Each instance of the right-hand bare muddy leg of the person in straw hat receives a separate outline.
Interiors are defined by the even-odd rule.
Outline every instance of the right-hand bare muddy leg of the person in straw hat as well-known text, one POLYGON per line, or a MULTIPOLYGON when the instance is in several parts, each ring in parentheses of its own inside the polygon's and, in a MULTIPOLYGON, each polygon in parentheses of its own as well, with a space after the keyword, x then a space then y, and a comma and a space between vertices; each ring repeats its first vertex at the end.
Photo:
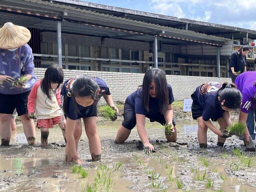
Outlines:
POLYGON ((20 115, 20 120, 23 124, 23 130, 29 145, 35 144, 35 126, 33 119, 28 117, 28 114, 20 115))

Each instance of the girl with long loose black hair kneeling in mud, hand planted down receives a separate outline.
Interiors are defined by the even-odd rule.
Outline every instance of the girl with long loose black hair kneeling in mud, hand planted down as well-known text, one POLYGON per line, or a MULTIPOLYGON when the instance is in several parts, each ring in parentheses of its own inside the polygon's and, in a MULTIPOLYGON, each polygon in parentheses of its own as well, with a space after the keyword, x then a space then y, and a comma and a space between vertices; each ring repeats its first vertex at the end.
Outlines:
POLYGON ((145 130, 145 117, 160 124, 170 125, 172 134, 166 134, 167 141, 174 142, 177 130, 171 103, 174 101, 171 86, 167 84, 163 70, 151 68, 146 71, 142 87, 131 93, 125 100, 123 121, 116 134, 115 142, 123 143, 131 129, 137 125, 138 135, 146 153, 154 150, 145 130))

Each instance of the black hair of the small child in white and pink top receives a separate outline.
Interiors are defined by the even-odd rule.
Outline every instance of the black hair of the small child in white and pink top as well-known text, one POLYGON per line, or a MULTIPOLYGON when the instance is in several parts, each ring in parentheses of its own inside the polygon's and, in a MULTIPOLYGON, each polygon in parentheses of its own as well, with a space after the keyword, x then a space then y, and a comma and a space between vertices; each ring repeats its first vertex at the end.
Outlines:
POLYGON ((50 90, 53 90, 50 83, 58 83, 57 87, 53 90, 53 92, 56 93, 59 85, 63 82, 63 78, 64 74, 62 66, 59 66, 58 64, 52 64, 47 67, 44 73, 44 77, 41 80, 41 89, 49 99, 51 99, 50 90))

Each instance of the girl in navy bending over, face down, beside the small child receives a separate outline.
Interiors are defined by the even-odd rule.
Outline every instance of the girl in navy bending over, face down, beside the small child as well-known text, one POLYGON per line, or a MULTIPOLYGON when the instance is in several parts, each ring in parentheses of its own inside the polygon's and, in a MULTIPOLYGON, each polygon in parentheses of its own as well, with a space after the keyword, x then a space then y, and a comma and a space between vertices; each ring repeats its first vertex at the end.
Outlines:
POLYGON ((63 111, 66 117, 64 121, 66 147, 66 161, 76 164, 85 162, 78 157, 77 145, 82 133, 81 118, 84 122, 85 132, 89 141, 89 149, 92 161, 101 159, 101 145, 97 133, 97 102, 101 96, 106 103, 115 109, 110 90, 106 83, 97 77, 79 75, 67 79, 60 92, 63 100, 63 111))

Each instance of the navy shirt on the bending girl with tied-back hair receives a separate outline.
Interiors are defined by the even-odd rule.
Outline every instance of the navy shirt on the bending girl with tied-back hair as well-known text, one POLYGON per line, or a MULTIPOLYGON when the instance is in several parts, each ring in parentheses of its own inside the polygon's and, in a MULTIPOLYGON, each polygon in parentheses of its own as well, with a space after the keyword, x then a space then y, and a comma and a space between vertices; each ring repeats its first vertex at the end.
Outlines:
POLYGON ((224 110, 218 100, 218 91, 222 84, 218 82, 206 82, 196 87, 195 92, 198 104, 202 108, 202 119, 217 119, 223 115, 224 110))

